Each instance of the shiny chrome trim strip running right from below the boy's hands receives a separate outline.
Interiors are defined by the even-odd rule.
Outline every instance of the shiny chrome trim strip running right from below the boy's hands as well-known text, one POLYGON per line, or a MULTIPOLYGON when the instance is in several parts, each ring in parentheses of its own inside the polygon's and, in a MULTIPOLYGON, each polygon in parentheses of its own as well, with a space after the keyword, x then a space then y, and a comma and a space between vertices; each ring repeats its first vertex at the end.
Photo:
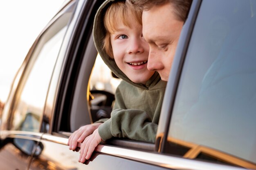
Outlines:
POLYGON ((233 166, 184 159, 163 154, 98 145, 95 151, 174 170, 244 170, 233 166))

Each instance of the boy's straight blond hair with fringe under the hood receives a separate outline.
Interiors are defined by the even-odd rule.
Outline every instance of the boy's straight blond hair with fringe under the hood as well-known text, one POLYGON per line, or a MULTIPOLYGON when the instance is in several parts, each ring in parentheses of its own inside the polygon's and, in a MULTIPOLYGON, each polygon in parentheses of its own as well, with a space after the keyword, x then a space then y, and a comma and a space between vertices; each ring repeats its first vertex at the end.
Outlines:
POLYGON ((106 29, 106 36, 103 42, 103 49, 105 49, 108 56, 114 58, 113 50, 110 41, 110 35, 118 30, 117 25, 124 24, 131 27, 131 22, 138 22, 142 25, 142 10, 137 5, 127 4, 126 1, 113 2, 106 10, 104 15, 104 27, 106 29))

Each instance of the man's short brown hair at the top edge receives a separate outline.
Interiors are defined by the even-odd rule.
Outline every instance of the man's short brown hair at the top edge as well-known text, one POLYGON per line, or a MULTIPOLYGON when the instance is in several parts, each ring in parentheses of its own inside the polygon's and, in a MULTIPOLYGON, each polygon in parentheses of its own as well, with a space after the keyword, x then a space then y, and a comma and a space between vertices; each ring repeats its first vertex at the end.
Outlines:
POLYGON ((149 10, 155 5, 170 3, 174 7, 174 13, 178 20, 184 21, 187 18, 192 0, 127 0, 130 4, 138 5, 143 10, 149 10))

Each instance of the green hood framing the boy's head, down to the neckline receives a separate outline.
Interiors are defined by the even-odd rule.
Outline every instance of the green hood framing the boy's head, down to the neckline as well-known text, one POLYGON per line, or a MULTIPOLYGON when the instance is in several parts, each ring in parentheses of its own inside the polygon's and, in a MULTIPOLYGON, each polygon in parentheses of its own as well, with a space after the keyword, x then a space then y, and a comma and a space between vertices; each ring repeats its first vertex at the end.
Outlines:
POLYGON ((103 18, 106 10, 114 1, 120 1, 120 0, 106 0, 105 2, 103 2, 103 4, 101 4, 101 6, 99 7, 95 15, 94 24, 93 24, 93 39, 94 39, 95 47, 99 52, 99 55, 101 56, 104 63, 108 65, 110 70, 117 77, 141 89, 150 89, 151 86, 155 86, 161 80, 157 72, 155 72, 153 76, 151 76, 151 78, 147 81, 146 85, 142 83, 134 83, 119 69, 114 58, 111 58, 110 56, 108 56, 108 54, 106 54, 106 51, 103 49, 103 40, 106 36, 106 29, 104 27, 103 18))

